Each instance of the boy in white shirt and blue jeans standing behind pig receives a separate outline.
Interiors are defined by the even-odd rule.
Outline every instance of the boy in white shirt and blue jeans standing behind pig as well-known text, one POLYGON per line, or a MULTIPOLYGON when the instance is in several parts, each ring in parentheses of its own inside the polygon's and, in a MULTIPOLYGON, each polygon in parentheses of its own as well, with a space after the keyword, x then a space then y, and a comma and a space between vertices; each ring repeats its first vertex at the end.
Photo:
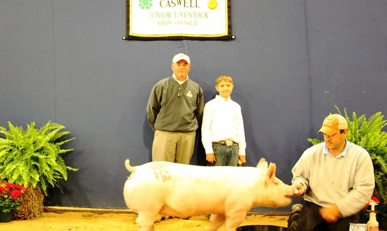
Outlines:
POLYGON ((219 92, 204 105, 201 142, 210 166, 237 166, 246 163, 246 140, 241 106, 230 97, 234 88, 230 76, 219 76, 219 92))

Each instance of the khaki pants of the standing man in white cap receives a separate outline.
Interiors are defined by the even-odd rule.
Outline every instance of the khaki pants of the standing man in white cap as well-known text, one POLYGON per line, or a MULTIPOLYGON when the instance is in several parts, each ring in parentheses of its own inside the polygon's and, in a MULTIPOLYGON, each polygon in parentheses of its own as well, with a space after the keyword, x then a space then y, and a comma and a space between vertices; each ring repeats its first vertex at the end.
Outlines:
POLYGON ((190 164, 194 153, 196 132, 156 130, 152 145, 152 161, 190 164))

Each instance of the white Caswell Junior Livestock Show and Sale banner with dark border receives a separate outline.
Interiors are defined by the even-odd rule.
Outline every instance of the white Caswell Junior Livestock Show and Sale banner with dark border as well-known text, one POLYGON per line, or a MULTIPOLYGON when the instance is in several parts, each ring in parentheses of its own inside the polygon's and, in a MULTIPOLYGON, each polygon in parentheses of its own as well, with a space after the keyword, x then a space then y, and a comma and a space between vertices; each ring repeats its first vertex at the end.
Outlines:
POLYGON ((134 40, 225 40, 231 0, 127 0, 127 33, 134 40))

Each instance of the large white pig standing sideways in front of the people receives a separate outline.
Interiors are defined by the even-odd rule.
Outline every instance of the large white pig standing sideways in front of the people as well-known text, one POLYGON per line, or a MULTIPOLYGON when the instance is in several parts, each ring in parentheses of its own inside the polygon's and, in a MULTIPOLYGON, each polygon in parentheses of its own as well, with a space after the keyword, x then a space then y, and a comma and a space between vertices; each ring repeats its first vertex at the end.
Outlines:
POLYGON ((261 159, 257 167, 195 166, 165 161, 126 168, 132 172, 124 199, 138 214, 138 231, 154 231, 158 214, 191 217, 213 214, 208 231, 225 223, 235 231, 251 208, 282 207, 291 203, 295 186, 275 177, 275 164, 261 159))

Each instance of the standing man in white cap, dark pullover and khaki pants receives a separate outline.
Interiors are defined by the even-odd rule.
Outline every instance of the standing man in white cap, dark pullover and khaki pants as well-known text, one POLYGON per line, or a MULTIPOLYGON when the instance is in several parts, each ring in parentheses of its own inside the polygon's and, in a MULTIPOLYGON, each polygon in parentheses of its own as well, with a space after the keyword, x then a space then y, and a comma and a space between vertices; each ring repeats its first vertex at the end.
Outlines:
POLYGON ((190 164, 203 114, 203 90, 188 77, 191 60, 186 54, 175 55, 171 68, 173 75, 153 86, 146 108, 155 132, 152 161, 190 164))

